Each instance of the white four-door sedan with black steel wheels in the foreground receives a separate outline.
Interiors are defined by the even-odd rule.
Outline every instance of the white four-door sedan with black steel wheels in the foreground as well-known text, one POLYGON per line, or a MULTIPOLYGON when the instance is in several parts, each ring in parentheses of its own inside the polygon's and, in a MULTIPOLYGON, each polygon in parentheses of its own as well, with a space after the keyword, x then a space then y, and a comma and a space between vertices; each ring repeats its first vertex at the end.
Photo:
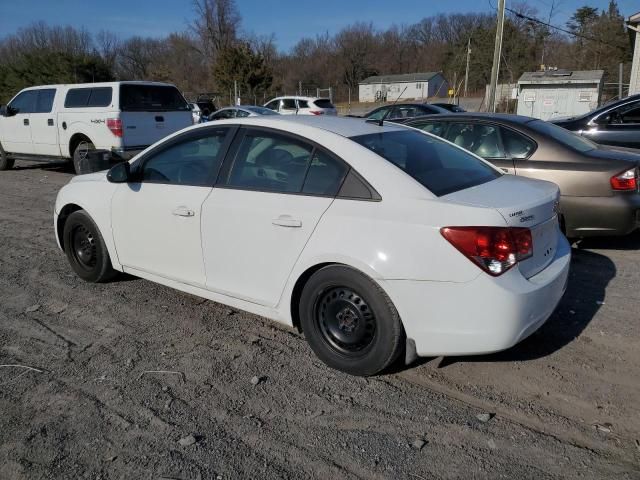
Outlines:
POLYGON ((127 272, 247 310, 372 375, 540 327, 569 272, 558 195, 407 127, 250 117, 74 177, 55 227, 89 282, 127 272))

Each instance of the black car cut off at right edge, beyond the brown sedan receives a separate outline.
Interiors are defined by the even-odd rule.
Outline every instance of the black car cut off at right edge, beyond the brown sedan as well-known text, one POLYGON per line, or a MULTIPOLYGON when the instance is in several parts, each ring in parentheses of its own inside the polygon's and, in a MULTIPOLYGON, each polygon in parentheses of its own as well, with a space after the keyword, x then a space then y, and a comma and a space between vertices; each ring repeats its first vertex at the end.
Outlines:
POLYGON ((551 122, 596 143, 640 148, 640 95, 623 98, 586 115, 551 122))

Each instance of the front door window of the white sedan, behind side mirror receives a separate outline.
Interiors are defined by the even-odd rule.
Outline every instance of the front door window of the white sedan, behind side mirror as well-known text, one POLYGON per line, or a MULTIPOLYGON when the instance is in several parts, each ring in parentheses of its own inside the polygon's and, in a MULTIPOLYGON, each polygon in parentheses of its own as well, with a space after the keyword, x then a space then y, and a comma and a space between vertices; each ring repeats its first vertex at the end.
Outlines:
POLYGON ((222 163, 228 128, 207 131, 206 136, 185 140, 144 160, 138 176, 142 182, 211 186, 222 163))

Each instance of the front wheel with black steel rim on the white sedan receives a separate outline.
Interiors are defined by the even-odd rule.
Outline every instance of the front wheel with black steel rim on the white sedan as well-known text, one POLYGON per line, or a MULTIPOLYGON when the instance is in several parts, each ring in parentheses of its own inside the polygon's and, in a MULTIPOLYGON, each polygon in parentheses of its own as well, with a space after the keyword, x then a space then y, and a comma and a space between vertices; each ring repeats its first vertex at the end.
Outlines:
POLYGON ((116 275, 100 230, 87 212, 78 210, 69 215, 62 238, 67 259, 80 278, 102 283, 116 275))

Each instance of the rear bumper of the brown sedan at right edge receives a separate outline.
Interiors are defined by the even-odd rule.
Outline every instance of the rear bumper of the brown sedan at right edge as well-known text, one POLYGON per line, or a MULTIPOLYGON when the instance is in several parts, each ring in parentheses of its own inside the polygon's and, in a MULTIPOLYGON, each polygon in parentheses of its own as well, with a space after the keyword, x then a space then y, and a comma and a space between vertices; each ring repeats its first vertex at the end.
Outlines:
POLYGON ((610 197, 561 197, 569 237, 627 235, 640 227, 640 194, 610 197))

